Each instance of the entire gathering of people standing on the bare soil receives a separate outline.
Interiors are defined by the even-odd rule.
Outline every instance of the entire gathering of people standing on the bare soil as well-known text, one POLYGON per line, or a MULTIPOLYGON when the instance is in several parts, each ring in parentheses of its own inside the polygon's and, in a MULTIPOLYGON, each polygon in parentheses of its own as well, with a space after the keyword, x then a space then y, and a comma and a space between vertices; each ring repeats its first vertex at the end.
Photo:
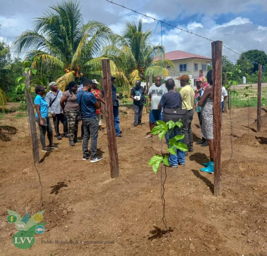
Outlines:
MULTIPOLYGON (((160 76, 156 77, 156 82, 147 90, 141 86, 141 81, 137 80, 135 86, 131 89, 130 97, 133 99, 134 107, 134 126, 142 125, 141 118, 143 106, 147 101, 147 109, 149 109, 149 128, 145 138, 151 138, 151 130, 156 125, 157 120, 162 120, 163 108, 179 108, 187 110, 186 121, 182 128, 176 127, 172 132, 167 132, 165 135, 166 143, 178 134, 183 134, 184 139, 181 140, 188 147, 188 152, 193 152, 193 134, 192 134, 192 120, 195 111, 198 113, 199 124, 201 126, 202 140, 197 144, 202 146, 209 146, 210 161, 203 163, 205 168, 201 171, 213 173, 213 87, 211 79, 211 71, 207 73, 206 77, 199 77, 196 80, 196 90, 194 91, 189 84, 190 78, 188 75, 182 75, 177 78, 180 80, 182 87, 180 92, 176 91, 175 82, 171 77, 165 78, 165 85, 162 84, 160 76), (145 97, 147 94, 147 98, 145 97)), ((123 137, 120 130, 119 122, 119 101, 116 97, 116 87, 114 86, 114 77, 111 77, 112 85, 112 102, 114 125, 116 137, 123 137)), ((36 86, 35 91, 37 97, 34 99, 36 107, 36 121, 40 130, 40 141, 42 144, 42 151, 49 152, 52 149, 58 148, 53 143, 52 125, 48 117, 48 112, 52 115, 56 138, 62 139, 59 132, 59 123, 63 124, 64 137, 69 138, 70 146, 75 146, 76 142, 81 142, 77 138, 79 119, 82 120, 82 137, 83 137, 83 160, 91 159, 91 162, 99 161, 103 156, 97 156, 96 146, 98 139, 98 132, 103 131, 101 125, 101 103, 105 104, 104 89, 97 88, 99 84, 96 79, 83 79, 83 84, 79 86, 75 81, 72 81, 66 86, 64 93, 58 90, 56 82, 51 82, 49 88, 51 89, 46 95, 43 86, 36 86), (78 92, 78 93, 77 93, 78 92), (80 117, 80 118, 79 118, 80 117), (45 144, 45 134, 49 140, 49 145, 45 144), (88 151, 88 141, 91 138, 91 155, 88 151)), ((227 92, 222 87, 222 102, 227 98, 227 92)), ((223 111, 223 107, 222 107, 223 111)), ((185 156, 188 152, 183 152, 176 149, 176 154, 169 154, 170 167, 178 167, 178 165, 185 166, 185 156)))

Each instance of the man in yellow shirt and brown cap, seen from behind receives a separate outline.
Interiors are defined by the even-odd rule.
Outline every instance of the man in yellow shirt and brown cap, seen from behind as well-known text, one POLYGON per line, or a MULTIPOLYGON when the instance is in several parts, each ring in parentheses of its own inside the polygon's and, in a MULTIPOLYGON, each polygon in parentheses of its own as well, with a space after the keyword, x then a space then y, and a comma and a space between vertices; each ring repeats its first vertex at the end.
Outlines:
MULTIPOLYGON (((191 122, 193 120, 194 115, 194 97, 195 93, 192 86, 189 84, 189 76, 182 75, 177 78, 180 80, 180 85, 182 89, 180 90, 180 94, 182 95, 182 107, 183 109, 187 109, 187 126, 182 127, 182 134, 184 134, 184 144, 188 147, 188 152, 193 152, 193 133, 191 129, 191 122)), ((185 155, 188 155, 186 152, 185 155)))

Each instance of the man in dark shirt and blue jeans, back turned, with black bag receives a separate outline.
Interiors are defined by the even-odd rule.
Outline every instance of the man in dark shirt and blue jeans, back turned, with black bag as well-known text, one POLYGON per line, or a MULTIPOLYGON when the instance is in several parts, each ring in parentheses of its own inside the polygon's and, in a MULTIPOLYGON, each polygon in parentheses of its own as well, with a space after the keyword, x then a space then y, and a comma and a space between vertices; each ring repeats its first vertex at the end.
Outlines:
MULTIPOLYGON (((168 90, 167 93, 162 95, 161 101, 158 105, 158 110, 161 110, 161 106, 163 108, 180 108, 182 109, 182 96, 179 92, 174 90, 175 82, 173 79, 168 79, 166 81, 166 88, 168 90), (161 105, 162 103, 162 105, 161 105)), ((175 126, 171 131, 167 131, 165 134, 166 143, 168 145, 169 140, 176 135, 182 134, 181 129, 178 126, 175 126)), ((180 140, 183 142, 183 140, 180 140)), ((170 167, 177 168, 178 165, 185 166, 185 153, 179 149, 176 149, 176 155, 169 154, 169 164, 170 167)))

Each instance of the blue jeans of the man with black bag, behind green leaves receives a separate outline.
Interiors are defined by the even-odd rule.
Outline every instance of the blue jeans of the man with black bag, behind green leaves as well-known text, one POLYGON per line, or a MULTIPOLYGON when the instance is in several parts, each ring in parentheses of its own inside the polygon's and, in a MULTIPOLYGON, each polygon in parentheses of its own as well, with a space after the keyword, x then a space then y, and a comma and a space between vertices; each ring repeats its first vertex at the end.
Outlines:
MULTIPOLYGON (((182 134, 182 131, 178 127, 175 127, 172 131, 167 131, 165 134, 165 139, 166 139, 167 145, 169 146, 169 140, 171 138, 175 137, 176 135, 181 135, 181 134, 182 134)), ((183 142, 183 140, 179 140, 179 141, 183 142)), ((169 154, 169 164, 177 166, 178 163, 185 164, 184 151, 181 151, 180 149, 176 149, 176 155, 169 154)))

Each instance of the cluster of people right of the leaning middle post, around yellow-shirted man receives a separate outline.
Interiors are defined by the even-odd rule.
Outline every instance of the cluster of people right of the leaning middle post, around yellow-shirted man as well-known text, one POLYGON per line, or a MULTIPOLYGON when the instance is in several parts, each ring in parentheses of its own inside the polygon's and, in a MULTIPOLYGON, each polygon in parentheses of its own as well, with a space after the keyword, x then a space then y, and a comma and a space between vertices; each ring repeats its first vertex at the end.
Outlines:
MULTIPOLYGON (((141 123, 143 104, 145 102, 144 95, 147 93, 147 102, 149 103, 147 108, 149 109, 149 127, 150 133, 145 138, 151 138, 151 130, 156 125, 157 120, 162 120, 163 108, 179 108, 187 110, 186 122, 180 129, 176 127, 171 132, 167 132, 165 135, 166 143, 178 134, 183 134, 184 139, 181 140, 188 147, 188 152, 193 152, 193 133, 192 133, 192 120, 194 115, 194 108, 198 114, 199 124, 201 126, 202 139, 196 144, 201 146, 209 146, 210 161, 203 163, 204 168, 200 170, 207 173, 214 172, 213 161, 213 83, 211 79, 212 71, 207 73, 207 78, 200 76, 196 79, 196 90, 194 91, 189 84, 189 76, 182 75, 177 78, 180 80, 180 86, 182 87, 180 92, 177 92, 175 82, 171 77, 165 78, 165 86, 161 83, 161 77, 156 77, 156 82, 149 88, 148 91, 144 91, 141 86, 141 81, 136 82, 131 90, 131 98, 134 100, 134 126, 141 123)), ((222 87, 222 111, 223 102, 227 98, 227 92, 222 87)), ((185 166, 185 156, 188 156, 188 152, 183 152, 176 149, 176 155, 169 154, 170 167, 177 168, 178 165, 185 166)))

